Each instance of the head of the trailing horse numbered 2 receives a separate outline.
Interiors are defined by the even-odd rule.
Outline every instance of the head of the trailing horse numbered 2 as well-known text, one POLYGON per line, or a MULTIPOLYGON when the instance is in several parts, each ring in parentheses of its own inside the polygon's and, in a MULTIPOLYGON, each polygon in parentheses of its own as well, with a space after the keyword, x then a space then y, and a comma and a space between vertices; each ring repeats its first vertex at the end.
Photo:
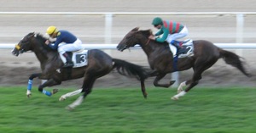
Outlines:
POLYGON ((129 47, 134 47, 136 44, 143 45, 143 43, 148 42, 148 36, 151 35, 151 30, 139 30, 139 28, 136 27, 125 35, 123 40, 119 42, 117 49, 119 51, 124 51, 129 47))

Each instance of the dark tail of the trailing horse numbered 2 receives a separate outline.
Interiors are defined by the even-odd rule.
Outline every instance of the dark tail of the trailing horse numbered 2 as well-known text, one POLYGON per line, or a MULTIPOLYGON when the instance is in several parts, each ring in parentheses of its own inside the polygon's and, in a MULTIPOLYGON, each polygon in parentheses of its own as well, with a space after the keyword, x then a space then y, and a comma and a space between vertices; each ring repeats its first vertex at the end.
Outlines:
POLYGON ((247 75, 247 77, 251 77, 247 70, 243 66, 243 61, 241 61, 241 57, 236 55, 236 53, 231 53, 224 49, 219 48, 220 57, 224 59, 226 64, 230 64, 241 71, 242 74, 247 75))

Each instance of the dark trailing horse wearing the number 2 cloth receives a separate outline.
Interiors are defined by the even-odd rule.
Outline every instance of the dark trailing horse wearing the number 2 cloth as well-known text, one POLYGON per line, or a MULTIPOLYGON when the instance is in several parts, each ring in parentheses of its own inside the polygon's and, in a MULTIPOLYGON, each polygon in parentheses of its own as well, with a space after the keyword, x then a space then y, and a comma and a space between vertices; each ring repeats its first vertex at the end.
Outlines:
POLYGON ((134 47, 136 44, 143 48, 147 54, 148 64, 153 69, 151 76, 156 76, 154 79, 154 86, 169 87, 174 83, 173 80, 168 84, 159 84, 159 81, 168 73, 174 71, 182 71, 185 69, 193 68, 194 75, 190 80, 184 81, 178 87, 178 94, 172 97, 177 100, 179 97, 185 95, 192 87, 196 86, 201 80, 201 74, 212 67, 218 61, 218 58, 223 58, 226 64, 230 64, 241 71, 242 74, 251 76, 244 68, 240 57, 235 53, 231 53, 219 47, 216 47, 212 42, 205 40, 193 41, 194 56, 187 58, 178 58, 177 63, 173 64, 174 59, 172 52, 169 49, 167 42, 160 43, 148 40, 148 36, 152 36, 151 30, 138 30, 134 28, 131 30, 121 42, 119 42, 118 50, 123 51, 126 48, 134 47), (173 65, 177 65, 176 68, 173 65), (189 85, 185 91, 183 86, 189 85))

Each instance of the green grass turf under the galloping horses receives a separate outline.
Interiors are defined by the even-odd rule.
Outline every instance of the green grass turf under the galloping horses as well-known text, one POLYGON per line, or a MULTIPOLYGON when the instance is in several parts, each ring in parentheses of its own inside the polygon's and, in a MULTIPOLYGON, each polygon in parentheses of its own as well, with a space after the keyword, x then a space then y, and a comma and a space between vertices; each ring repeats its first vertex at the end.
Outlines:
MULTIPOLYGON (((50 89, 49 89, 50 90, 50 89)), ((78 97, 58 99, 73 89, 46 97, 36 88, 0 87, 0 130, 9 133, 236 133, 256 130, 256 89, 195 88, 179 101, 176 89, 95 89, 73 111, 65 107, 78 97)))

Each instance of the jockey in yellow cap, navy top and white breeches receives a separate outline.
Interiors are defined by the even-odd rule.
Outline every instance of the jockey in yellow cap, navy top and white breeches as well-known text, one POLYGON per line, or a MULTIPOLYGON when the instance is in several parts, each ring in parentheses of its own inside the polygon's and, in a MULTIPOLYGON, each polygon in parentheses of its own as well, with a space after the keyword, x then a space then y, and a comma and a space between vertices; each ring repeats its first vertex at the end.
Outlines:
POLYGON ((49 26, 46 33, 51 38, 56 38, 56 41, 49 45, 49 40, 45 42, 52 49, 58 49, 61 60, 64 63, 63 68, 73 67, 72 58, 68 56, 66 52, 74 52, 81 50, 82 42, 67 30, 57 30, 55 26, 49 26), (65 63, 65 58, 67 62, 65 63))

